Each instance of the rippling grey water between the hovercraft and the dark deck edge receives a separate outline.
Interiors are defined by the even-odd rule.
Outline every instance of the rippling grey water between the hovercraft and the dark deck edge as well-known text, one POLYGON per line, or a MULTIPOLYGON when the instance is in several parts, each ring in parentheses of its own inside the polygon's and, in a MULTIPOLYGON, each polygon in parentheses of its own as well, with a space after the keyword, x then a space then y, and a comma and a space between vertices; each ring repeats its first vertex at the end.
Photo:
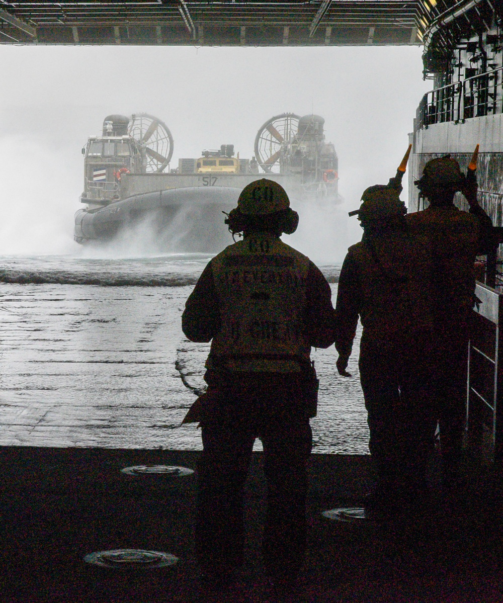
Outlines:
MULTIPOLYGON (((180 424, 209 344, 188 341, 180 317, 209 259, 0 257, 0 445, 201 449, 197 426, 180 424)), ((335 304, 340 265, 320 268, 335 304)), ((359 335, 352 377, 334 347, 312 350, 313 452, 369 452, 359 335)))

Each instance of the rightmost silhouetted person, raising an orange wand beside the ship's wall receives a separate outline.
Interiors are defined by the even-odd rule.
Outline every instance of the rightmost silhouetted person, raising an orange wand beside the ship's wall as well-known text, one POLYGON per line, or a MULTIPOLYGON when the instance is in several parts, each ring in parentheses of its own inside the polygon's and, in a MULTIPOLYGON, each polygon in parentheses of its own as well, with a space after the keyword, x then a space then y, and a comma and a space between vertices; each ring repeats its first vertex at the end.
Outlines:
POLYGON ((492 222, 477 201, 476 152, 465 176, 451 156, 426 163, 416 181, 429 206, 407 216, 411 232, 428 239, 434 260, 437 415, 447 485, 459 481, 466 417, 467 349, 475 294, 475 257, 492 244, 492 222), (469 212, 454 205, 463 192, 469 212))

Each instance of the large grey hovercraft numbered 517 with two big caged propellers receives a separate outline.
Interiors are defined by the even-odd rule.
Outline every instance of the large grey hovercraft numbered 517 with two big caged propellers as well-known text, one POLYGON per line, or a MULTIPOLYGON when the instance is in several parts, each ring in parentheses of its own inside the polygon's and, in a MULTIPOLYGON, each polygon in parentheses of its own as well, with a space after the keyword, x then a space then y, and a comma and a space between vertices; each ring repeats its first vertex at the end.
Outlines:
POLYGON ((173 139, 160 119, 109 115, 102 135, 82 150, 86 207, 75 214, 75 241, 141 235, 154 250, 216 253, 229 243, 222 212, 260 177, 279 182, 293 203, 329 210, 341 198, 337 153, 325 142, 323 124, 318 115, 283 113, 259 129, 251 160, 226 144, 169 169, 173 139))

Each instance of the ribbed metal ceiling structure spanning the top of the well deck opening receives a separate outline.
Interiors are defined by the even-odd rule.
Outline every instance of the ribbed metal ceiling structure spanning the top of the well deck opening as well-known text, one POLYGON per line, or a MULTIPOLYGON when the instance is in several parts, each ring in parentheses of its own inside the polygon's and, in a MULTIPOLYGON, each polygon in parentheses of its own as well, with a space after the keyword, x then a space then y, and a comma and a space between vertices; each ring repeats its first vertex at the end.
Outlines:
POLYGON ((0 0, 0 43, 420 45, 451 0, 0 0))

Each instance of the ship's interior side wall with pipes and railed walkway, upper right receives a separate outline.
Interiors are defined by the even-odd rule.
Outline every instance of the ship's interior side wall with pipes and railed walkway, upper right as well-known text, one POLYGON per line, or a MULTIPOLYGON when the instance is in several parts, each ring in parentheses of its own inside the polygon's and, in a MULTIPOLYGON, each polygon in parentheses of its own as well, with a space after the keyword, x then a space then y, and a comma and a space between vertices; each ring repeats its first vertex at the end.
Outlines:
MULTIPOLYGON (((434 157, 451 154, 466 172, 479 144, 478 200, 503 226, 503 8, 458 2, 425 33, 423 63, 433 89, 423 96, 410 135, 410 211, 424 209, 414 180, 434 157), (449 34, 449 35, 448 35, 449 34), (455 40, 455 42, 449 42, 455 40)), ((496 3, 498 5, 498 3, 496 3)), ((455 200, 469 209, 463 195, 455 200)))

